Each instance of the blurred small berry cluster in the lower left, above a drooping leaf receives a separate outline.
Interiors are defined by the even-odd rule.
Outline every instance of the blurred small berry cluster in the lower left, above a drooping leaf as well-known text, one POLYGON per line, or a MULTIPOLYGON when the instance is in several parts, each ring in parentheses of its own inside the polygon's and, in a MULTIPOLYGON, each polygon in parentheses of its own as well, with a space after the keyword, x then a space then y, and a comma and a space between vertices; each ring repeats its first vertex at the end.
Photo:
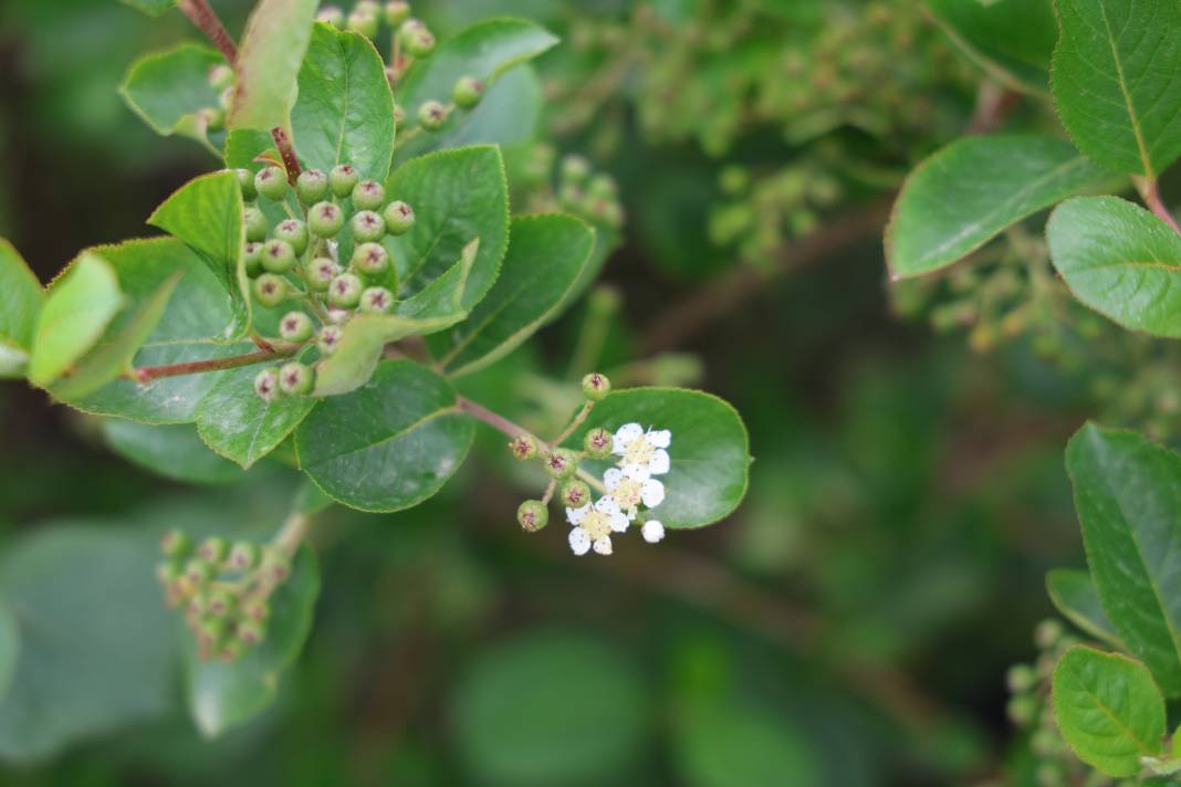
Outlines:
POLYGON ((180 530, 161 539, 161 551, 164 562, 156 575, 164 597, 170 606, 183 608, 202 661, 234 661, 262 642, 270 595, 291 576, 286 555, 253 542, 230 545, 217 537, 194 549, 180 530))

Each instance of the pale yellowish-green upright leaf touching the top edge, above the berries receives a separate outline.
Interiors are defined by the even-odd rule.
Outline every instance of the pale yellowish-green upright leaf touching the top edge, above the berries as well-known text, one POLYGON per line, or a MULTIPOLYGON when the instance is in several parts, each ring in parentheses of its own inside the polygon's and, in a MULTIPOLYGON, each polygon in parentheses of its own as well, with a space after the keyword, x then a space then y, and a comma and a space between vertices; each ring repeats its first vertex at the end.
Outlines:
POLYGON ((259 0, 237 51, 229 129, 291 126, 300 63, 312 39, 317 0, 259 0))

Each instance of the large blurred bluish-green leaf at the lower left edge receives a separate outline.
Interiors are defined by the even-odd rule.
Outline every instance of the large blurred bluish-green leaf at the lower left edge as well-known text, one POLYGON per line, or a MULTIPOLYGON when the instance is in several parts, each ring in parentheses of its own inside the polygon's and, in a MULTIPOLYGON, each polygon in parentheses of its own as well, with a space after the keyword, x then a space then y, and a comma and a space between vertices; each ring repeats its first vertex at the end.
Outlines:
POLYGON ((0 701, 0 756, 27 762, 142 723, 172 703, 172 619, 155 539, 106 523, 38 527, 9 545, 0 595, 20 650, 0 701))

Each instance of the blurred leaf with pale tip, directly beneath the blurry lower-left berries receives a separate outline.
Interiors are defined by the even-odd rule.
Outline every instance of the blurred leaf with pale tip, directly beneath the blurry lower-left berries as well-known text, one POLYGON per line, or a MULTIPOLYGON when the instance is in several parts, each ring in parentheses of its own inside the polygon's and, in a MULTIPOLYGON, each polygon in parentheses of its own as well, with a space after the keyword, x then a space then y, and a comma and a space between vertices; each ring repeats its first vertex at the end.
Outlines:
POLYGON ((221 735, 274 701, 282 671, 304 649, 319 593, 315 555, 305 546, 291 578, 270 597, 266 638, 237 661, 201 661, 193 636, 182 632, 189 709, 205 737, 221 735))

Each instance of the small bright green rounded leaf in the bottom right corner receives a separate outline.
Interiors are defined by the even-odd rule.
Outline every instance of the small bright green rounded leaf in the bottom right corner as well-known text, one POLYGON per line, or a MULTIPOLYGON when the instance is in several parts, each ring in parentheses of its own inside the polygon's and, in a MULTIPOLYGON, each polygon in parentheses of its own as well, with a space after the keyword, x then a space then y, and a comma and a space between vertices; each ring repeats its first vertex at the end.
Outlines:
POLYGON ((1078 758, 1109 776, 1140 773, 1164 737, 1164 700, 1144 665, 1071 648, 1053 668, 1053 714, 1078 758))

